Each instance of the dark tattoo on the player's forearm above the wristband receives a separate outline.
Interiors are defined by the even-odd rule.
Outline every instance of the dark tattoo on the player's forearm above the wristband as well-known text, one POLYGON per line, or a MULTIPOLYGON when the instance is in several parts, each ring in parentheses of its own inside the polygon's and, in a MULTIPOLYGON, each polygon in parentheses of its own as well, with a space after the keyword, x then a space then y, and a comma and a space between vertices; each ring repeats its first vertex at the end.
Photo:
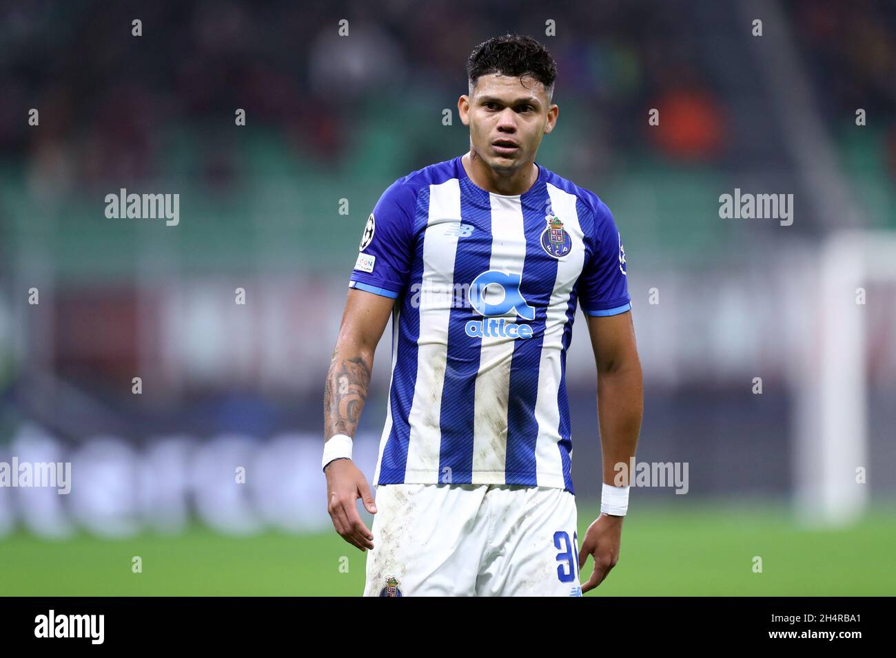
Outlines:
POLYGON ((369 363, 361 356, 344 359, 338 351, 333 353, 323 390, 323 427, 328 439, 333 434, 355 435, 369 386, 369 363))

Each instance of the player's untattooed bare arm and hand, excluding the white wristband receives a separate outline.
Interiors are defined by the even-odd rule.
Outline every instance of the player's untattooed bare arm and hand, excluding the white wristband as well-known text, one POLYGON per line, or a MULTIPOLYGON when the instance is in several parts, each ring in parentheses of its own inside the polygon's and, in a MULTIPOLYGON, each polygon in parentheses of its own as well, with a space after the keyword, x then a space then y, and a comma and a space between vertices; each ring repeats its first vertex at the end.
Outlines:
MULTIPOLYGON (((634 339, 632 313, 589 316, 591 346, 598 366, 598 422, 603 455, 603 483, 628 486, 627 468, 616 483, 614 466, 630 463, 638 446, 643 413, 641 360, 634 339)), ((594 570, 582 593, 594 589, 619 560, 622 522, 625 517, 600 514, 589 526, 579 551, 579 568, 591 555, 594 570)))

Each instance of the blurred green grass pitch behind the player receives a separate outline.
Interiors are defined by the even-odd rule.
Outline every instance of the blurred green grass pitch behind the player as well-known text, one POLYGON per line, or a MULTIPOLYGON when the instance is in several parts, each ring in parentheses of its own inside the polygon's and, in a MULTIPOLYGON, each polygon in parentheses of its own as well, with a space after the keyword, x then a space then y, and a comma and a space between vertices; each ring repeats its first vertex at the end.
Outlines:
MULTIPOLYGON (((596 511, 579 502, 580 542, 596 511)), ((893 595, 894 546, 896 515, 883 509, 849 529, 817 531, 764 504, 633 506, 619 563, 586 595, 893 595)), ((65 542, 17 533, 0 539, 0 595, 351 596, 363 590, 365 558, 335 533, 234 538, 196 526, 177 536, 65 542), (135 555, 140 574, 131 570, 135 555)), ((589 561, 582 580, 590 570, 589 561)))

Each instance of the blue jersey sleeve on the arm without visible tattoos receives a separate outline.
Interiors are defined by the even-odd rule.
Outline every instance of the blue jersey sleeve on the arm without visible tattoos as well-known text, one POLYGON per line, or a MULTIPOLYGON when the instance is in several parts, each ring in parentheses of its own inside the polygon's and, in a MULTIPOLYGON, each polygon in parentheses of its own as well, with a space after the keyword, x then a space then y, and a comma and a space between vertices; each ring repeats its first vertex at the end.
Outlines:
POLYGON ((597 197, 593 211, 591 249, 579 278, 579 299, 588 315, 616 315, 632 308, 622 236, 607 204, 597 197))

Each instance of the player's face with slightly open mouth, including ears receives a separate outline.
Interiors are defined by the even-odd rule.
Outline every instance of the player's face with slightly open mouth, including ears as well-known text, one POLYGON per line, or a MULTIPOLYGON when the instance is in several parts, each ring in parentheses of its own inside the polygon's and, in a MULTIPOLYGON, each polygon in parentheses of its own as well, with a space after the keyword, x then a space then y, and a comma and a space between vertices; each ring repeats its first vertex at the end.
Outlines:
POLYGON ((461 96, 458 111, 470 126, 473 150, 495 171, 510 174, 535 158, 541 138, 554 130, 558 108, 534 78, 493 73, 461 96))

